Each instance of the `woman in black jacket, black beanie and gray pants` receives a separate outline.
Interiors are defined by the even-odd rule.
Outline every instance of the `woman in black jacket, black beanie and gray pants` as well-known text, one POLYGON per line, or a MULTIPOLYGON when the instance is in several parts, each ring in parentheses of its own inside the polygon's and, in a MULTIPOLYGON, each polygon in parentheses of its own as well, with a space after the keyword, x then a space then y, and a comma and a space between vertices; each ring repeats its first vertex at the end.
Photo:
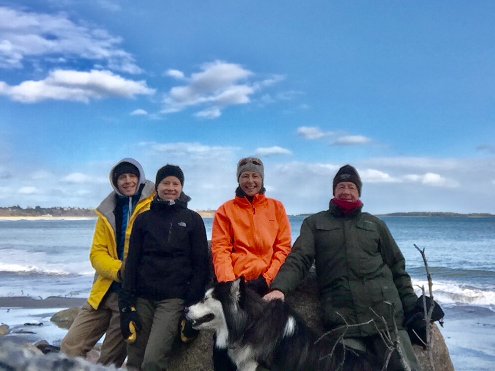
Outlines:
POLYGON ((119 295, 128 370, 165 370, 184 307, 204 296, 206 231, 201 216, 187 208, 183 184, 180 167, 159 169, 157 195, 132 228, 119 295))

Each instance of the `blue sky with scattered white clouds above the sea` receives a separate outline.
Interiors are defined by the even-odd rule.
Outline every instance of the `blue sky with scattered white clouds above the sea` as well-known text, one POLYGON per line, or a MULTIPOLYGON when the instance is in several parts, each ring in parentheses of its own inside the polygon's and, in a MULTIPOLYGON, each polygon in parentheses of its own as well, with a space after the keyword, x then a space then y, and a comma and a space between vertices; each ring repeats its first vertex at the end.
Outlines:
POLYGON ((134 157, 192 209, 495 213, 495 2, 0 0, 0 206, 96 207, 134 157))

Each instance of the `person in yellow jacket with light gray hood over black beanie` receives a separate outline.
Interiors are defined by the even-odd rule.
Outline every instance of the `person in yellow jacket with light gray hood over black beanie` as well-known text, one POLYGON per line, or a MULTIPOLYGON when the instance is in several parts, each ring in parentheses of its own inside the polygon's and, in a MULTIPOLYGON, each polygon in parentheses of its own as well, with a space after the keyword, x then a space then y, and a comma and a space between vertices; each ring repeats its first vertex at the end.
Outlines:
POLYGON ((105 335, 98 363, 121 367, 126 343, 120 332, 118 291, 127 255, 132 223, 149 209, 155 185, 133 158, 124 158, 110 170, 113 191, 100 203, 89 260, 95 270, 93 286, 60 350, 68 356, 85 357, 105 335))

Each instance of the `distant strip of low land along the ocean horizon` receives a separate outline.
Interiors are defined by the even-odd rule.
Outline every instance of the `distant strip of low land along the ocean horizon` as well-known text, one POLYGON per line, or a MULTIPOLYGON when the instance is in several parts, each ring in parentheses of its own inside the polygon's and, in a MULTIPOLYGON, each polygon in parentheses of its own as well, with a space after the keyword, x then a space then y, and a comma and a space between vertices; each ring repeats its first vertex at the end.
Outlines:
MULTIPOLYGON (((213 218, 215 216, 215 210, 196 210, 196 212, 203 218, 213 218)), ((313 215, 313 213, 308 214, 298 214, 294 216, 307 217, 313 215)), ((377 216, 418 216, 418 217, 472 217, 472 218, 486 218, 495 217, 495 214, 490 213, 469 213, 469 214, 459 214, 459 213, 449 213, 449 212, 438 212, 438 211, 411 211, 405 213, 389 213, 389 214, 377 214, 377 216)), ((95 218, 96 214, 94 209, 91 208, 80 208, 80 207, 26 207, 21 208, 19 205, 0 207, 0 217, 89 217, 95 218)))

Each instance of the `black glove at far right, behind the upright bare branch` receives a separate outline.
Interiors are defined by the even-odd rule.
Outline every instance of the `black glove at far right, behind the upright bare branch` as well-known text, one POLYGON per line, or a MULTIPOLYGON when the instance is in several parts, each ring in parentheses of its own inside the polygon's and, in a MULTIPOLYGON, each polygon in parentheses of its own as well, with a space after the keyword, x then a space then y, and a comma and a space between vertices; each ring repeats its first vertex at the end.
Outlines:
MULTIPOLYGON (((427 296, 426 298, 426 308, 427 311, 430 310, 432 299, 427 296)), ((431 322, 440 321, 444 318, 444 311, 440 308, 440 305, 434 300, 433 303, 435 307, 432 312, 431 322)), ((425 310, 423 306, 423 296, 421 296, 417 301, 413 310, 406 317, 404 323, 406 326, 411 343, 418 344, 425 347, 426 344, 426 321, 425 321, 425 310)))

